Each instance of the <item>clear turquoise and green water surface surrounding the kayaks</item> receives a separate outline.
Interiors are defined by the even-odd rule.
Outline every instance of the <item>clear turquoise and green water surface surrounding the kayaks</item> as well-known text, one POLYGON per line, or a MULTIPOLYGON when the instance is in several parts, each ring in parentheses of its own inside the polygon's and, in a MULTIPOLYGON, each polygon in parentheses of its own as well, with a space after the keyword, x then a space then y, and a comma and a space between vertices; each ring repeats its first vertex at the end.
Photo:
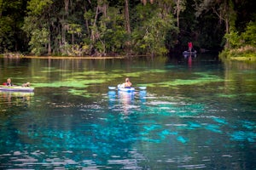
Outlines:
POLYGON ((0 169, 255 169, 256 66, 196 58, 0 59, 0 169), (130 77, 136 91, 109 90, 130 77), (146 90, 138 87, 146 86, 146 90))

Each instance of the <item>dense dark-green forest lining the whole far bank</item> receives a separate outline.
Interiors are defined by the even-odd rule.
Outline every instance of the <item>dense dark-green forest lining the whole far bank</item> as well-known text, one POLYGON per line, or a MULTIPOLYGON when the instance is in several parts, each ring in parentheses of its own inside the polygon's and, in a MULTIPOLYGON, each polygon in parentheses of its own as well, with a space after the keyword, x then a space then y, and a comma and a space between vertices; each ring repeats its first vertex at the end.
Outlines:
POLYGON ((255 0, 0 0, 0 54, 255 53, 255 0))

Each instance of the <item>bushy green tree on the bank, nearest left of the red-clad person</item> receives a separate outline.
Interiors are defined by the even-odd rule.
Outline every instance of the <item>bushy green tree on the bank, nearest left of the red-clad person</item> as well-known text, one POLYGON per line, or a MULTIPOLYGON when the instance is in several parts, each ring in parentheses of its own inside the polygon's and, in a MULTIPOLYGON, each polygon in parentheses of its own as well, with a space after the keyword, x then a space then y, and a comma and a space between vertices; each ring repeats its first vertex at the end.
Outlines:
POLYGON ((139 54, 166 54, 167 32, 176 31, 172 14, 163 14, 161 8, 149 4, 138 6, 137 13, 137 26, 132 33, 135 51, 139 54))

